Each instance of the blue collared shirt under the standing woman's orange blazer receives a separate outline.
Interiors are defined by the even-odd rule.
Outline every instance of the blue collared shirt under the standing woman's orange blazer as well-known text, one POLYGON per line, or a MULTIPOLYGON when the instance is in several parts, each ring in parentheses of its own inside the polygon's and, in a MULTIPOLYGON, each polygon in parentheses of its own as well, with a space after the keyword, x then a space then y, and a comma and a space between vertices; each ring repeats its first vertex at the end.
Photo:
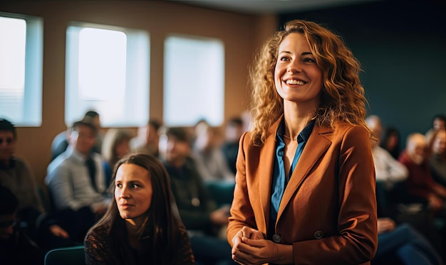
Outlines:
POLYGON ((269 234, 274 233, 274 226, 276 224, 277 213, 279 212, 279 205, 282 200, 282 196, 284 195, 284 190, 286 188, 286 184, 288 184, 291 175, 293 174, 294 168, 296 168, 296 164, 301 157, 302 151, 304 151, 304 147, 306 141, 310 137, 311 132, 313 131, 314 126, 313 119, 297 136, 297 148, 296 153, 294 153, 293 163, 291 163, 291 168, 289 170, 289 174, 285 176, 285 166, 284 166, 284 150, 285 150, 285 142, 283 139, 285 126, 284 121, 281 122, 279 129, 276 133, 276 160, 274 161, 274 175, 271 184, 271 210, 270 210, 270 231, 269 234))

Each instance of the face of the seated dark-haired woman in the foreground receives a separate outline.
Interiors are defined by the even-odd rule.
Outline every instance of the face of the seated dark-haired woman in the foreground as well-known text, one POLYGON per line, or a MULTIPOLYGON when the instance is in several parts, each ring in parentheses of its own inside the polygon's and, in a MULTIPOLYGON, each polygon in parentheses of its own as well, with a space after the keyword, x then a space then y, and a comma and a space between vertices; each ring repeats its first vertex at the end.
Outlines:
POLYGON ((115 178, 115 200, 123 219, 144 219, 152 202, 149 171, 135 164, 119 166, 115 178))

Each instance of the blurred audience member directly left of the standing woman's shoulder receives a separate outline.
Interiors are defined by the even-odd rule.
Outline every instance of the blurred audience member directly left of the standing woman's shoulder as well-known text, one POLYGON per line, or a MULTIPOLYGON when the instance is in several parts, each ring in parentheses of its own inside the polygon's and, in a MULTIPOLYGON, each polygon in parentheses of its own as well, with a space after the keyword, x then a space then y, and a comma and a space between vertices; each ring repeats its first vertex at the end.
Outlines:
POLYGON ((237 161, 237 153, 239 153, 239 140, 243 132, 242 118, 234 117, 229 119, 226 124, 222 152, 229 169, 234 175, 237 173, 237 168, 235 165, 237 161))

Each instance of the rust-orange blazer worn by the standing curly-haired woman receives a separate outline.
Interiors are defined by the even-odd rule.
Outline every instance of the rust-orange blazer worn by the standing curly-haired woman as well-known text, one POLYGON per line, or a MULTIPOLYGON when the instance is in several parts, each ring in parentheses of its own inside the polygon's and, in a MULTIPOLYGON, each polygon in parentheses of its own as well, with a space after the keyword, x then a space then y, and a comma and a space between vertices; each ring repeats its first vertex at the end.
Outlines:
MULTIPOLYGON (((266 234, 276 131, 262 146, 240 139, 227 239, 242 227, 266 234)), ((292 244, 295 264, 370 264, 378 247, 375 168, 363 126, 315 125, 282 197, 274 242, 292 244)))

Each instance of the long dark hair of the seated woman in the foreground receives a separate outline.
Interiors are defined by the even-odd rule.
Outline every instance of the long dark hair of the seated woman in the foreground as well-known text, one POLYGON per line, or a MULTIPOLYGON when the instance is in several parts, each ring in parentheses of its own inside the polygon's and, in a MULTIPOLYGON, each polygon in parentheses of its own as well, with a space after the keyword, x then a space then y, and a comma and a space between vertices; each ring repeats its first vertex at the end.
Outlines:
MULTIPOLYGON (((148 220, 142 232, 138 234, 138 239, 144 249, 141 254, 147 259, 152 259, 147 260, 149 264, 171 264, 175 259, 175 253, 181 249, 178 235, 180 227, 184 227, 170 190, 169 175, 155 156, 145 153, 130 153, 116 163, 113 169, 112 183, 115 182, 118 168, 124 163, 145 168, 149 172, 153 188, 148 220), (147 249, 150 249, 149 252, 153 255, 147 254, 147 249)), ((128 242, 125 220, 120 217, 116 200, 112 200, 105 215, 91 229, 102 226, 108 229, 108 241, 112 253, 115 254, 115 259, 123 264, 130 264, 130 261, 134 259, 133 251, 128 247, 128 244, 123 244, 123 242, 128 242)))

